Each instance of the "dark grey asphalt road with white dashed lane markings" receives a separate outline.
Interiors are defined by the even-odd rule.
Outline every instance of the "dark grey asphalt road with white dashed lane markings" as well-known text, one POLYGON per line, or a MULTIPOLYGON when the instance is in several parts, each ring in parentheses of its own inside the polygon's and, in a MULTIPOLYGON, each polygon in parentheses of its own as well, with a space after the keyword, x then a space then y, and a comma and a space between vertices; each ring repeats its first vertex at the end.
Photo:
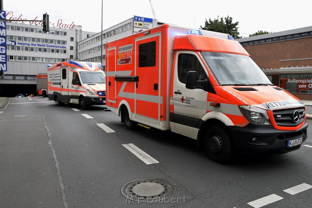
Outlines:
POLYGON ((129 131, 104 109, 11 98, 0 111, 0 207, 312 207, 312 124, 297 151, 239 154, 221 165, 195 140, 129 131), (157 162, 142 161, 132 144, 157 162), (157 202, 123 196, 142 178, 168 181, 175 192, 157 202))

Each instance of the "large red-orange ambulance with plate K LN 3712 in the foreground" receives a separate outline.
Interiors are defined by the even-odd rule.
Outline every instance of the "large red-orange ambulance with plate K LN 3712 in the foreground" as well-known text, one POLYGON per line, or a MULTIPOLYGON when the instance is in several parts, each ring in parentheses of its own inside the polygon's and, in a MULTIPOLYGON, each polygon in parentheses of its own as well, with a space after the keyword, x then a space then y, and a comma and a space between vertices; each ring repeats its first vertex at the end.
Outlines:
POLYGON ((305 105, 232 36, 164 24, 105 43, 106 106, 126 128, 185 135, 216 162, 285 153, 307 138, 305 105))

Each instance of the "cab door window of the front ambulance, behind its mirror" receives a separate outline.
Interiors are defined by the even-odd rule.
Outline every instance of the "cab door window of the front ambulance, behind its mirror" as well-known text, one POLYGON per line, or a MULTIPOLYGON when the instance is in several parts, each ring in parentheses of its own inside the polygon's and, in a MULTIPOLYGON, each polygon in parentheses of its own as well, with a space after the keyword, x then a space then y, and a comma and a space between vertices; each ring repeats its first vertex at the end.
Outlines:
POLYGON ((186 83, 186 74, 188 71, 197 72, 197 80, 208 79, 202 65, 193 54, 179 54, 178 56, 178 77, 179 81, 186 83))

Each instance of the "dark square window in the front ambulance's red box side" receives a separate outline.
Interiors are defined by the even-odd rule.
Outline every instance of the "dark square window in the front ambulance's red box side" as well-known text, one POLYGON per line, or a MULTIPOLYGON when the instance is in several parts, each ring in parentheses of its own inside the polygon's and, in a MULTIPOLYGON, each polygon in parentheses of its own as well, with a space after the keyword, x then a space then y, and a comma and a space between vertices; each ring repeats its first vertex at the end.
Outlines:
POLYGON ((139 44, 139 67, 156 66, 156 41, 139 44))

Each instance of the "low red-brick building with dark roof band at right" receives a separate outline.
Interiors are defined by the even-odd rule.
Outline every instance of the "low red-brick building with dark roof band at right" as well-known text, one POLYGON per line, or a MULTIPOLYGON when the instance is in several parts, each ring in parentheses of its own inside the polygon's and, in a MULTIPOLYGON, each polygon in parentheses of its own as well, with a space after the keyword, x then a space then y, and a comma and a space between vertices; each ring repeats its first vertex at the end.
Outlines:
POLYGON ((312 26, 236 39, 273 84, 312 100, 312 26))

